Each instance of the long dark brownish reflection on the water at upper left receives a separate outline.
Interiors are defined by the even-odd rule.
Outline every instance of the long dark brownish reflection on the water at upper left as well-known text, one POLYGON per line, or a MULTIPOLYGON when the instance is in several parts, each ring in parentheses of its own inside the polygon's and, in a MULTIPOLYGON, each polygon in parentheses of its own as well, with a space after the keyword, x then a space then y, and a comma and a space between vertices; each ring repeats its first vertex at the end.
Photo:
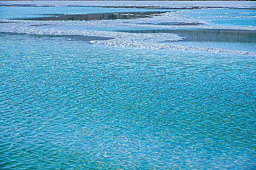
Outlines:
POLYGON ((26 18, 27 20, 102 20, 102 19, 132 19, 132 18, 143 18, 153 17, 156 14, 163 14, 166 12, 130 12, 130 13, 106 13, 106 14, 75 14, 75 15, 64 15, 54 14, 52 17, 37 17, 37 18, 26 18))

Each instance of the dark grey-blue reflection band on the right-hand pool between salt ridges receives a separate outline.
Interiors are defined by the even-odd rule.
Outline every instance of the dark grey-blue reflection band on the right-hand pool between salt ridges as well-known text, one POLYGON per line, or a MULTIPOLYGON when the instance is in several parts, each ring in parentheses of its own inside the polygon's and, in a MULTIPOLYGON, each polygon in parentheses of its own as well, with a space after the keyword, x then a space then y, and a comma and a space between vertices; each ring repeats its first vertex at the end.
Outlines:
POLYGON ((255 30, 128 30, 128 33, 172 33, 186 37, 185 41, 256 42, 255 30))

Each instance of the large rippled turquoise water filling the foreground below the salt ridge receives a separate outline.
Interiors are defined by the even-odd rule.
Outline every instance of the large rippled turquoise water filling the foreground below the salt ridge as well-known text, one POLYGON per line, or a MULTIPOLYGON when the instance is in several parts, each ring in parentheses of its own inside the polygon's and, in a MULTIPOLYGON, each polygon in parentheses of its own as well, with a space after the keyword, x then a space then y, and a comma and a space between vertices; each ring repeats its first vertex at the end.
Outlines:
POLYGON ((255 56, 0 34, 0 169, 255 169, 255 118, 255 56))

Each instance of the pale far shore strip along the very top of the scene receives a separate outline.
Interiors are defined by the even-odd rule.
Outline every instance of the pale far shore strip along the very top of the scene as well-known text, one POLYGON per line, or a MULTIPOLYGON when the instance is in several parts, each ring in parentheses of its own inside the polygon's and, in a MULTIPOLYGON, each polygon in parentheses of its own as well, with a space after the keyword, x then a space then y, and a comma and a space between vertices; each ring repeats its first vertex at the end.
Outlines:
POLYGON ((105 1, 105 0, 0 0, 2 5, 29 5, 29 6, 73 6, 73 7, 171 7, 171 8, 187 8, 187 7, 216 7, 218 8, 256 8, 256 1, 218 1, 218 0, 156 0, 156 1, 105 1), (127 3, 129 2, 129 3, 127 3), (155 3, 154 3, 155 2, 155 3), (159 3, 161 2, 161 3, 159 3), (199 3, 200 2, 200 3, 199 3), (219 3, 221 2, 221 3, 219 3), (230 3, 232 2, 232 3, 230 3))

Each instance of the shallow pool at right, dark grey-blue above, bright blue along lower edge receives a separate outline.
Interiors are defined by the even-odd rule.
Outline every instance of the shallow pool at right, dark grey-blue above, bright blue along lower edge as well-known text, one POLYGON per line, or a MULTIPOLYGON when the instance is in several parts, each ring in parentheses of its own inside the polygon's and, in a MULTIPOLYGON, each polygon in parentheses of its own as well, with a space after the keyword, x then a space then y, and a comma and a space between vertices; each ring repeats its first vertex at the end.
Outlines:
POLYGON ((256 51, 255 30, 214 29, 140 29, 126 30, 128 33, 171 33, 183 37, 179 41, 163 41, 168 44, 191 47, 212 47, 239 51, 256 51))

